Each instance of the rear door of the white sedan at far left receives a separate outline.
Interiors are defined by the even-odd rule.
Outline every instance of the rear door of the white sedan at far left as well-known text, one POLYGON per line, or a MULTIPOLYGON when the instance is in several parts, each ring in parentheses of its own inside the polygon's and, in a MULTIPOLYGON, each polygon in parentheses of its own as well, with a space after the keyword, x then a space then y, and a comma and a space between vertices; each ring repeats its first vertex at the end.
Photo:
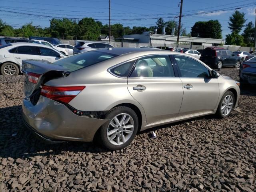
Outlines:
POLYGON ((14 59, 21 66, 22 60, 39 59, 40 55, 36 46, 19 46, 13 54, 14 59))

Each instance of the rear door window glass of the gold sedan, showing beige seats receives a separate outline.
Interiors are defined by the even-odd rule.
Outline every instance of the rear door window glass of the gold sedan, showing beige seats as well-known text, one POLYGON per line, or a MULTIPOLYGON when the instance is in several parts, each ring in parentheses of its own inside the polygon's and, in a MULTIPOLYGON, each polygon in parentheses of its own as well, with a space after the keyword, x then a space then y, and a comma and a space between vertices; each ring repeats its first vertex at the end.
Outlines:
POLYGON ((138 59, 130 77, 174 77, 174 70, 168 55, 148 56, 138 59))

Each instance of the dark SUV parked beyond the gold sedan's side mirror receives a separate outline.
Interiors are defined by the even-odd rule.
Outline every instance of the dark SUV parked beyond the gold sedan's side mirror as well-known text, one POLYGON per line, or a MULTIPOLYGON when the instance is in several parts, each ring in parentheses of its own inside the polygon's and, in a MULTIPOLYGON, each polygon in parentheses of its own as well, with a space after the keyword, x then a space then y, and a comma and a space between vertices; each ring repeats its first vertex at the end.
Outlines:
POLYGON ((200 60, 211 68, 220 69, 222 66, 239 67, 241 58, 236 56, 232 51, 223 48, 204 49, 201 53, 200 60))

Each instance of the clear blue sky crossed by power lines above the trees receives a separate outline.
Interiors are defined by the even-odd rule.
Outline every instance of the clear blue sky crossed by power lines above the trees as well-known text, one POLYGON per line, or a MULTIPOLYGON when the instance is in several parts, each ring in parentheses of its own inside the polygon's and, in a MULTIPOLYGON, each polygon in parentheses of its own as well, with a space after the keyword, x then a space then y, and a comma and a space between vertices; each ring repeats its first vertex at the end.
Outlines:
MULTIPOLYGON (((0 0, 0 19, 14 28, 33 22, 33 25, 49 27, 52 17, 92 17, 108 24, 108 0, 0 0), (26 13, 26 14, 20 14, 26 13)), ((180 0, 110 0, 111 24, 124 26, 154 26, 156 18, 164 21, 179 16, 180 0)), ((246 23, 255 24, 255 0, 183 0, 182 24, 190 32, 195 22, 218 20, 222 25, 222 38, 230 33, 228 21, 234 8, 245 13, 246 23), (242 8, 240 8, 242 7, 242 8), (220 12, 210 11, 222 10, 220 12), (197 15, 189 15, 197 14, 197 15)), ((178 18, 175 18, 178 22, 178 18)))

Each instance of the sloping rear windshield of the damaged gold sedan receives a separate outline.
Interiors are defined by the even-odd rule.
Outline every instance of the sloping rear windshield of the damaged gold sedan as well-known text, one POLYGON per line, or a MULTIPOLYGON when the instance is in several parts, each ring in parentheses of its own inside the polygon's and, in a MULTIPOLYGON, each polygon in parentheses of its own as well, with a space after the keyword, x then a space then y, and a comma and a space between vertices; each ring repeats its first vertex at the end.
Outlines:
POLYGON ((115 54, 109 54, 98 51, 88 51, 82 54, 77 54, 58 60, 54 64, 68 68, 70 72, 76 71, 81 68, 85 68, 96 63, 108 60, 110 58, 116 57, 115 54))

